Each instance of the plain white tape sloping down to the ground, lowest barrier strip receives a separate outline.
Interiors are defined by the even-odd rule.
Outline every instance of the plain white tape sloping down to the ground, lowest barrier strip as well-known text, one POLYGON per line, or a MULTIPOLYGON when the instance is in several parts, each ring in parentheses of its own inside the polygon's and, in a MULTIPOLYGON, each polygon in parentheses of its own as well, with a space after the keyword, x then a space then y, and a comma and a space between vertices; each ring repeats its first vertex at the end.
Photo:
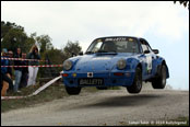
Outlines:
POLYGON ((41 92, 43 90, 45 90, 47 86, 51 85, 52 83, 55 83, 59 79, 61 79, 61 76, 50 80, 45 85, 40 86, 39 89, 37 89, 34 93, 32 93, 29 95, 26 95, 26 96, 1 96, 1 100, 23 99, 23 97, 29 97, 29 96, 37 95, 39 92, 41 92))

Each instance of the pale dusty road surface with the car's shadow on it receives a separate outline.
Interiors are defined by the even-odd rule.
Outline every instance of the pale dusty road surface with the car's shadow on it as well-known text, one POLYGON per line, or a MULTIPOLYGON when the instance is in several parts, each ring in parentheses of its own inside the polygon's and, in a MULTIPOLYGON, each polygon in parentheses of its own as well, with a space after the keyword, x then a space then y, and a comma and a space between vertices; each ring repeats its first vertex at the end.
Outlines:
POLYGON ((189 91, 142 90, 129 94, 121 90, 63 97, 35 106, 1 113, 1 125, 74 126, 131 125, 189 117, 189 91))

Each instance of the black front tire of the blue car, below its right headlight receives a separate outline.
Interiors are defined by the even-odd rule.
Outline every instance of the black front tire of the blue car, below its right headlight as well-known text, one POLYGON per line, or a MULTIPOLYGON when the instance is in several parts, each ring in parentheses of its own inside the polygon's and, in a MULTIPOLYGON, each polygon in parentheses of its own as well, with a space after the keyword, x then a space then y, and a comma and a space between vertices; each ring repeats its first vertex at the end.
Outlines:
POLYGON ((142 89, 142 70, 141 68, 135 69, 135 76, 132 85, 127 86, 129 93, 140 93, 142 89))

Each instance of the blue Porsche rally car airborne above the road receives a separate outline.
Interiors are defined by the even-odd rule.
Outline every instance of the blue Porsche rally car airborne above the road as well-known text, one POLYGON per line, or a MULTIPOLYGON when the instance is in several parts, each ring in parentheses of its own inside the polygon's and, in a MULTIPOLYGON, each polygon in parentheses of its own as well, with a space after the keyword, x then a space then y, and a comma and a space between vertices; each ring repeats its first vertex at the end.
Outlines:
POLYGON ((129 93, 139 93, 142 81, 152 82, 154 89, 164 89, 169 71, 166 60, 157 54, 144 38, 96 38, 84 55, 63 62, 66 90, 76 95, 84 86, 126 86, 129 93))

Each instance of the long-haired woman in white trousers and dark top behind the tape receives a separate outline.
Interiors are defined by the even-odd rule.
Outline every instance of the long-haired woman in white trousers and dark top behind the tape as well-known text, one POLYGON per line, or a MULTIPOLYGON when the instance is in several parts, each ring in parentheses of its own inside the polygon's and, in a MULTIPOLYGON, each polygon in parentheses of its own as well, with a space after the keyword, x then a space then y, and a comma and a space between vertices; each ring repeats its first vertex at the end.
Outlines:
MULTIPOLYGON (((39 65, 38 59, 40 59, 40 56, 38 54, 38 48, 36 45, 33 45, 33 47, 31 48, 29 54, 27 55, 27 59, 35 59, 35 61, 34 60, 28 61, 29 66, 39 65)), ((28 67, 29 76, 28 76, 27 86, 36 84, 37 72, 38 72, 38 67, 28 67)))

